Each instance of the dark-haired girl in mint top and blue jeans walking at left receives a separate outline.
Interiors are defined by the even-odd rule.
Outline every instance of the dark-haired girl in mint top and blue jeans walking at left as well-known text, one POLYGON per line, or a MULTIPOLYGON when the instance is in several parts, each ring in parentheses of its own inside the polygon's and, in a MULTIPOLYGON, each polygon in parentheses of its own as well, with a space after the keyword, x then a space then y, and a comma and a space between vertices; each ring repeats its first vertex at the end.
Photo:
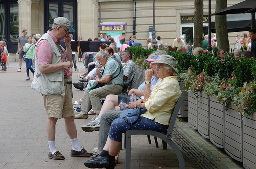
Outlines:
POLYGON ((28 43, 25 44, 25 47, 23 50, 25 52, 25 62, 26 62, 27 76, 28 76, 26 81, 30 81, 29 70, 33 73, 33 76, 35 73, 31 67, 32 62, 34 62, 34 59, 35 59, 35 45, 34 43, 32 43, 31 36, 28 37, 28 43))

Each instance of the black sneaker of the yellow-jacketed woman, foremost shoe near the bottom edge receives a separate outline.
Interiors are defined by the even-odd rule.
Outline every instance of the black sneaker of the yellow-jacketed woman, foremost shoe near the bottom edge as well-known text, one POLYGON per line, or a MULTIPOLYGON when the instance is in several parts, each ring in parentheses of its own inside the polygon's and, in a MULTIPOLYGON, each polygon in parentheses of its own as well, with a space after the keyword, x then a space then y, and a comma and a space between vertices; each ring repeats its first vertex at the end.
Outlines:
POLYGON ((93 157, 92 159, 88 161, 84 161, 84 165, 90 169, 95 169, 95 168, 104 168, 108 167, 109 162, 108 162, 108 157, 101 157, 99 154, 96 155, 96 157, 93 157))

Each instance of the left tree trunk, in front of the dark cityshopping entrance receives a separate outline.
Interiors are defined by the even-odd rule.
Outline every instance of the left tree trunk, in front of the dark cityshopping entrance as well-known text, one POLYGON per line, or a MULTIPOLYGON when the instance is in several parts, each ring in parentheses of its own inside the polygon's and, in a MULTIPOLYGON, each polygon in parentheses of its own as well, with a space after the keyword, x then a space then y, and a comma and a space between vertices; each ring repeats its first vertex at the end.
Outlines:
POLYGON ((195 22, 194 22, 194 40, 193 48, 202 47, 203 45, 203 16, 204 16, 204 1, 195 0, 195 22))

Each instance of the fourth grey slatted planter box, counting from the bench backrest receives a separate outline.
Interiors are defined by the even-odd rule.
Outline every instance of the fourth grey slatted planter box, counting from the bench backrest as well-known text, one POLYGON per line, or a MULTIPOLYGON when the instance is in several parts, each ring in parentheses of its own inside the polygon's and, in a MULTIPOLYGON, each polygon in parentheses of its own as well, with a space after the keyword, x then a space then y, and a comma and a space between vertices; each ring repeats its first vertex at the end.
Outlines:
POLYGON ((210 96, 210 141, 220 148, 224 148, 224 110, 224 105, 210 96))

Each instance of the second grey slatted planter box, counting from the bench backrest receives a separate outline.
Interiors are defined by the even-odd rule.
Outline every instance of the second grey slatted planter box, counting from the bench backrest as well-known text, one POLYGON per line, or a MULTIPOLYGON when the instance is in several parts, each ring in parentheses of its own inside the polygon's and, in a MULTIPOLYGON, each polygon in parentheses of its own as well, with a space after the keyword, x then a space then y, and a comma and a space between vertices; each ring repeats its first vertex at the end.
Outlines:
POLYGON ((188 124, 195 130, 198 129, 198 99, 194 99, 196 96, 197 94, 188 92, 188 124))

